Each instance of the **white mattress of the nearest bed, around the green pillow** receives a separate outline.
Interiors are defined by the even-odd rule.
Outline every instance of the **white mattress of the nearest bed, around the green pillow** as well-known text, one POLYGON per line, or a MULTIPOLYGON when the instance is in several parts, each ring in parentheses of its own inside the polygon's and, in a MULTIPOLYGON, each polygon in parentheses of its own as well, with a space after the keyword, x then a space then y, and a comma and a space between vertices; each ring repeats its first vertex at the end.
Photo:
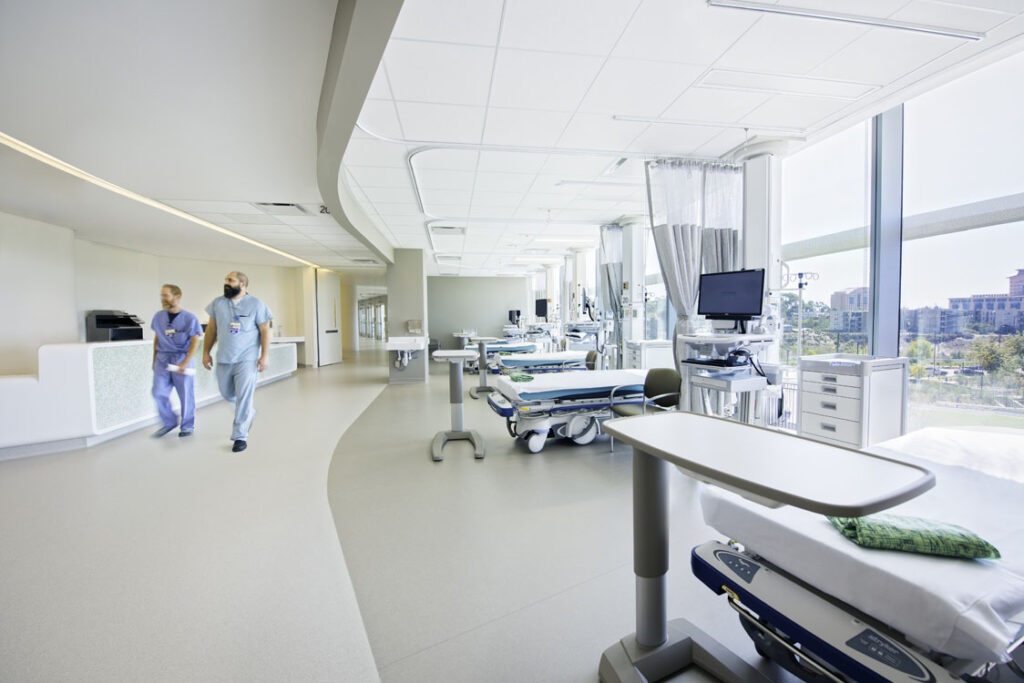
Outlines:
POLYGON ((706 488, 701 505, 706 521, 722 533, 912 642, 959 658, 998 660, 1024 623, 1024 486, 926 458, 969 462, 975 454, 985 462, 1008 447, 1024 458, 1024 435, 927 429, 870 449, 935 472, 935 488, 892 512, 965 526, 995 545, 999 560, 861 548, 820 515, 765 508, 719 488, 706 488))

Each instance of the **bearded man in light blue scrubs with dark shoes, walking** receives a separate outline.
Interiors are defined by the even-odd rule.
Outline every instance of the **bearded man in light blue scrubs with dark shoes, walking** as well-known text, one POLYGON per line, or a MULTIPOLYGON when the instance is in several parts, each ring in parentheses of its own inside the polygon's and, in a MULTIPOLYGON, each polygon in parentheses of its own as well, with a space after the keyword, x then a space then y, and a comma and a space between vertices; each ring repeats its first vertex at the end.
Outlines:
POLYGON ((245 451, 252 426, 253 392, 256 378, 266 370, 270 352, 270 309, 249 294, 249 278, 244 272, 229 272, 224 278, 224 296, 206 307, 210 322, 203 339, 203 367, 210 370, 210 351, 217 347, 217 385, 220 395, 234 402, 231 427, 231 451, 245 451))

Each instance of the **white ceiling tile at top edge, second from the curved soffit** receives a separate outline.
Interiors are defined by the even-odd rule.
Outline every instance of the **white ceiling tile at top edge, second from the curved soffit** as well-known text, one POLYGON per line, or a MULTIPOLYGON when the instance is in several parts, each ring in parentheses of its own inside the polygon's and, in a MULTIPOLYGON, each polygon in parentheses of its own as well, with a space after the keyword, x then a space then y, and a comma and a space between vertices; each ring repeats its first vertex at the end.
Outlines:
POLYGON ((502 47, 604 56, 638 0, 508 0, 502 47))

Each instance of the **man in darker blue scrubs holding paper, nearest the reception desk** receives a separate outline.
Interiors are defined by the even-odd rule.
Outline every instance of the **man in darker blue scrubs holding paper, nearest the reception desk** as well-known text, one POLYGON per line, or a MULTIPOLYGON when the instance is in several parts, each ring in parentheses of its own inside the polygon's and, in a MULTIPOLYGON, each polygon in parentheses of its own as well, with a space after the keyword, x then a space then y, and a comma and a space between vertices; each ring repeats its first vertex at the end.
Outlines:
POLYGON ((181 289, 164 285, 160 290, 163 308, 153 316, 153 398, 163 426, 154 432, 160 437, 179 427, 178 436, 191 436, 196 429, 196 387, 193 355, 203 329, 199 318, 181 308, 181 289), (173 368, 173 370, 172 370, 173 368), (171 389, 178 392, 181 421, 171 408, 171 389))

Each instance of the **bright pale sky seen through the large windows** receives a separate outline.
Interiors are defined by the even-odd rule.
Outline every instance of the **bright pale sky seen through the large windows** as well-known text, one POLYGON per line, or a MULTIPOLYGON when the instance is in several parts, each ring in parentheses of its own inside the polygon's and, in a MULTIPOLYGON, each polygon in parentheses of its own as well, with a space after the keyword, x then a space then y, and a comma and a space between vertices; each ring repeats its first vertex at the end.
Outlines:
MULTIPOLYGON (((904 215, 1024 193, 1024 54, 919 96, 904 113, 904 215)), ((866 225, 868 124, 782 162, 782 243, 866 225)), ((805 297, 867 283, 866 250, 790 263, 818 273, 805 297)), ((910 308, 1009 291, 1024 268, 1024 223, 903 245, 902 299, 910 308)))

